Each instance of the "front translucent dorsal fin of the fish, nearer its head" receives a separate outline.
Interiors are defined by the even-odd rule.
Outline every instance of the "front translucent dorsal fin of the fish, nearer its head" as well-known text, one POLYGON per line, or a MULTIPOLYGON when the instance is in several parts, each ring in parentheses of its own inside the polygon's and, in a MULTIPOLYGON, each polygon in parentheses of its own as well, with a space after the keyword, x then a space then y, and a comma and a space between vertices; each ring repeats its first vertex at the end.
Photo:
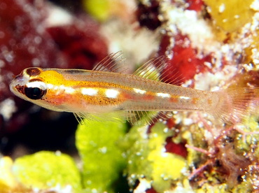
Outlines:
POLYGON ((92 70, 123 73, 125 69, 127 69, 125 68, 124 62, 123 52, 119 51, 106 56, 101 62, 94 66, 92 70))

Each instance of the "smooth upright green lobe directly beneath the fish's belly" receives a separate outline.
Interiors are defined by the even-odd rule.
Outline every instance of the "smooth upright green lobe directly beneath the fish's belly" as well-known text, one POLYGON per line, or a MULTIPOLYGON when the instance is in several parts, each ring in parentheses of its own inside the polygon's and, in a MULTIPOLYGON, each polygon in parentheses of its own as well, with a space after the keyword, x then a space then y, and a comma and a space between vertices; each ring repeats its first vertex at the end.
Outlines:
POLYGON ((76 146, 83 161, 85 192, 114 192, 113 183, 125 166, 123 152, 116 142, 123 138, 123 122, 85 120, 76 132, 76 146))

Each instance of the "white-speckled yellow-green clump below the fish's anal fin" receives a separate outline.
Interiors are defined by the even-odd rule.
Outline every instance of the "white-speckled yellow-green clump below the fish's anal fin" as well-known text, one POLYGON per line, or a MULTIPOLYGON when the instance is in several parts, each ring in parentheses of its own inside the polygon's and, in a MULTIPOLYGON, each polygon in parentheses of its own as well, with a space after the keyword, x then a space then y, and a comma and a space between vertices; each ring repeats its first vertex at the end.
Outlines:
POLYGON ((182 176, 186 160, 179 155, 165 152, 165 141, 172 136, 165 124, 157 123, 146 134, 147 127, 132 127, 124 145, 127 149, 127 173, 130 183, 139 178, 151 181, 157 192, 170 190, 174 180, 182 176))

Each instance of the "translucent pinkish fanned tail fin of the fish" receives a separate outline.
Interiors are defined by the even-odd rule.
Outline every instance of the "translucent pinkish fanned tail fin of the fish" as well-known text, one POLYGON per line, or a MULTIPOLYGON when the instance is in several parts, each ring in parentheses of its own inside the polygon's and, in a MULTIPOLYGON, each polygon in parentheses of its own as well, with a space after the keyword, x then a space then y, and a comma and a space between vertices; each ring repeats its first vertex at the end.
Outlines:
POLYGON ((221 93, 222 106, 213 114, 224 122, 237 124, 259 113, 259 87, 236 87, 221 93))

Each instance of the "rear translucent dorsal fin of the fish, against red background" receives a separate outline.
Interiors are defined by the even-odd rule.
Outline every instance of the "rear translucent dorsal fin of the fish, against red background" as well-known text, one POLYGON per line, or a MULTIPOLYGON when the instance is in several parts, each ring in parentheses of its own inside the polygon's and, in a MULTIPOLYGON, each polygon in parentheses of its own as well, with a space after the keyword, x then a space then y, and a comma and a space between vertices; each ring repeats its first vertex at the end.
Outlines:
POLYGON ((168 68, 167 61, 168 58, 165 56, 150 59, 140 66, 139 69, 134 72, 134 75, 173 85, 181 85, 183 78, 181 78, 179 74, 174 73, 173 77, 168 76, 168 71, 172 68, 168 68))

